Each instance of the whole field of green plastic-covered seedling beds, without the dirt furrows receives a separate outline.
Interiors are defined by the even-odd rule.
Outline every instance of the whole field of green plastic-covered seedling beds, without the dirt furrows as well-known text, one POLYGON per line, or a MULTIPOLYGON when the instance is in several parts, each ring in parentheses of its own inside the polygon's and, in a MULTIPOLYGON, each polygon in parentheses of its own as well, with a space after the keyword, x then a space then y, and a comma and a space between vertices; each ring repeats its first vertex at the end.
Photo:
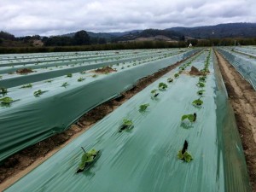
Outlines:
POLYGON ((216 51, 255 89, 253 50, 1 55, 2 162, 175 66, 6 191, 252 191, 216 51))

